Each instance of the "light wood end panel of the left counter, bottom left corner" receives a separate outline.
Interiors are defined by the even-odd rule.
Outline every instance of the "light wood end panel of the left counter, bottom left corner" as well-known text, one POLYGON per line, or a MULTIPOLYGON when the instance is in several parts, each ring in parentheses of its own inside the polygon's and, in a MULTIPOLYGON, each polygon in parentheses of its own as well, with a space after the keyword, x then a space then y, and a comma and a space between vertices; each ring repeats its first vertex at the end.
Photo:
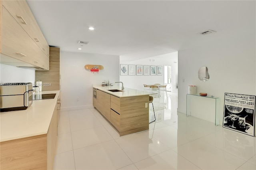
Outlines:
POLYGON ((46 134, 0 143, 2 170, 47 169, 46 134))

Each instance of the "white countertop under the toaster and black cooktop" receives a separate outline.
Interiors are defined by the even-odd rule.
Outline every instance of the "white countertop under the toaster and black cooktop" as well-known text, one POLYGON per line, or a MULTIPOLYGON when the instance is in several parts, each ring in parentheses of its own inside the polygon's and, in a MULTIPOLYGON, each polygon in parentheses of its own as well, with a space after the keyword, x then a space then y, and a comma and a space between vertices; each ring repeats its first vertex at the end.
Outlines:
POLYGON ((42 91, 39 94, 56 93, 54 99, 34 100, 26 110, 0 113, 0 141, 46 134, 60 91, 42 91))

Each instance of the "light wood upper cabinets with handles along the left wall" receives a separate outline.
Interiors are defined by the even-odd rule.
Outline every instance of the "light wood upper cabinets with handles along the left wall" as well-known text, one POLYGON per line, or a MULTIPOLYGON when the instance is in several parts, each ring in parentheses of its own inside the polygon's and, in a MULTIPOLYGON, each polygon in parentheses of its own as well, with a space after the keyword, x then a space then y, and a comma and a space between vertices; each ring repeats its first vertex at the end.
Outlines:
POLYGON ((49 70, 49 45, 25 0, 2 0, 1 63, 49 70))

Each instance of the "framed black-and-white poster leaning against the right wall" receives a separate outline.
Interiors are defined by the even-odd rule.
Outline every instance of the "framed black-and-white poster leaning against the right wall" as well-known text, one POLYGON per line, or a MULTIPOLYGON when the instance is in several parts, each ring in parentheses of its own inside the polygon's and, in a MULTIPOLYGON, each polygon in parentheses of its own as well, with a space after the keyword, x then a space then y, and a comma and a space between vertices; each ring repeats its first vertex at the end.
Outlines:
POLYGON ((255 97, 225 93, 223 127, 254 136, 255 97))

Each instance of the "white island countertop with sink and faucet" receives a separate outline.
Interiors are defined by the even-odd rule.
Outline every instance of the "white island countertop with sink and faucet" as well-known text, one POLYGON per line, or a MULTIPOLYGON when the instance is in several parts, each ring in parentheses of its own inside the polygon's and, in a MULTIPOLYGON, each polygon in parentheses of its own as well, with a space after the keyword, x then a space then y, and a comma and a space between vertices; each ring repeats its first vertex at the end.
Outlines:
POLYGON ((96 88, 96 89, 99 89, 100 91, 104 91, 105 93, 108 93, 110 95, 114 95, 116 97, 132 97, 132 96, 157 94, 155 92, 130 89, 130 88, 127 88, 127 87, 124 87, 123 91, 118 91, 118 92, 108 91, 108 90, 111 90, 111 89, 122 90, 122 87, 120 87, 120 86, 93 86, 93 87, 96 88))

